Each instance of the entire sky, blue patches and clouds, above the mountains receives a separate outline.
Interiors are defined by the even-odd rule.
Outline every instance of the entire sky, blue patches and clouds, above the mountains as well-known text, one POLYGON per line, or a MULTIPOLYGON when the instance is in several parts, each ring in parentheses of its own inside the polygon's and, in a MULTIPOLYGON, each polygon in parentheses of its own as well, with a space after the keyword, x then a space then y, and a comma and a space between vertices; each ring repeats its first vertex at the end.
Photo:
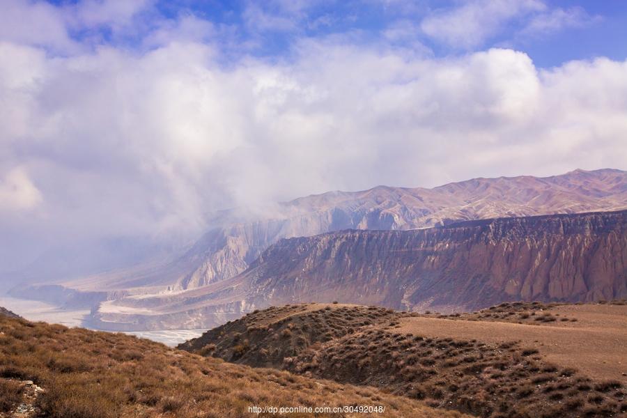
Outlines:
POLYGON ((627 169, 624 1, 0 10, 0 270, 335 189, 627 169))

